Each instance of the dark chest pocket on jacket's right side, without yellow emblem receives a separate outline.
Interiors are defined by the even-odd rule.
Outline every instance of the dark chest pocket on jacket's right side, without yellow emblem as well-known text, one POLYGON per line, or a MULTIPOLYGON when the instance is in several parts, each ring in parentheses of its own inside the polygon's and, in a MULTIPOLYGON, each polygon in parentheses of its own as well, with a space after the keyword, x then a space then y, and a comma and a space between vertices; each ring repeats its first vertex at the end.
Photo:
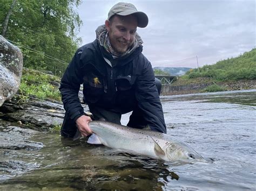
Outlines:
POLYGON ((127 108, 133 108, 136 104, 134 88, 135 81, 136 76, 117 76, 116 104, 124 110, 127 108))

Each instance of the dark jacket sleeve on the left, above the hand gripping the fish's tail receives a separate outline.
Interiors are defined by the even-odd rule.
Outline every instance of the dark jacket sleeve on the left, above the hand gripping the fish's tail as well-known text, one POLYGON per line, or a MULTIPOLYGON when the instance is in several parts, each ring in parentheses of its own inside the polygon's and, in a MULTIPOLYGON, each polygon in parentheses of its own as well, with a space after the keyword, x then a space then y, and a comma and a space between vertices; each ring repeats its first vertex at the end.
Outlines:
POLYGON ((80 84, 83 83, 82 63, 80 61, 81 54, 82 50, 78 49, 69 66, 66 68, 59 87, 66 114, 74 122, 84 114, 84 109, 78 98, 80 84))

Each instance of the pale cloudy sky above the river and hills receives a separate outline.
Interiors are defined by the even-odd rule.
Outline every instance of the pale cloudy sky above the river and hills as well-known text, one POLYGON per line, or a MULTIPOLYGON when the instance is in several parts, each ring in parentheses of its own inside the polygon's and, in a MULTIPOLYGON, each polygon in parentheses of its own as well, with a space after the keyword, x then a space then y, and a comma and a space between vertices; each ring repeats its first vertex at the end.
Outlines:
MULTIPOLYGON (((82 45, 96 38, 111 7, 120 1, 83 0, 78 7, 82 45)), ((130 0, 149 17, 137 32, 153 67, 210 65, 255 48, 254 0, 130 0)))

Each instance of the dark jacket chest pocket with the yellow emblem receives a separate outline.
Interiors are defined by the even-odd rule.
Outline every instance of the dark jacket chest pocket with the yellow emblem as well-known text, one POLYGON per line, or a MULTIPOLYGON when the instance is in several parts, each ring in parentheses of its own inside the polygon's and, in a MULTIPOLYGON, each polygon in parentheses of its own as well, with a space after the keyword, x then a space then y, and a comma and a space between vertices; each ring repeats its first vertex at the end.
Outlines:
POLYGON ((84 101, 96 103, 104 94, 104 77, 91 73, 84 76, 84 101))

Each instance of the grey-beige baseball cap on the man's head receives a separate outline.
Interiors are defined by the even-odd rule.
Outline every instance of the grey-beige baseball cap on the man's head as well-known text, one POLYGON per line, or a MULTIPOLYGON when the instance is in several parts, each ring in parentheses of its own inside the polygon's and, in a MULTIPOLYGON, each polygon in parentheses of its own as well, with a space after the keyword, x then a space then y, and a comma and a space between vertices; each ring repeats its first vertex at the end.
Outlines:
POLYGON ((136 15, 138 18, 138 27, 144 28, 149 23, 149 18, 144 12, 138 11, 136 7, 131 3, 117 3, 109 11, 107 19, 110 19, 113 15, 127 16, 136 15))

